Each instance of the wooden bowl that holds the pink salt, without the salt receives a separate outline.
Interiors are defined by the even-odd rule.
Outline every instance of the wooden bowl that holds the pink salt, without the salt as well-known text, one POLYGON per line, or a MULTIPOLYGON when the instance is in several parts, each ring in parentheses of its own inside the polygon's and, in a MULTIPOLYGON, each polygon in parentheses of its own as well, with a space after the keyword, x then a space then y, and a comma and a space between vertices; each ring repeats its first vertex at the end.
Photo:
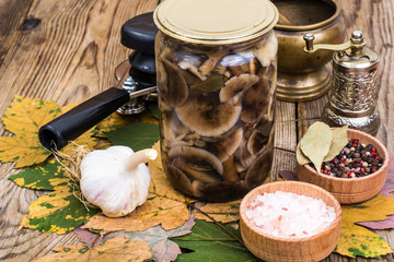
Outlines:
POLYGON ((338 201, 326 190, 299 181, 271 182, 248 192, 240 206, 241 236, 246 248, 264 261, 320 261, 329 255, 339 240, 341 209, 338 201), (276 191, 292 192, 322 199, 333 206, 336 218, 324 231, 305 238, 277 238, 257 230, 246 217, 246 207, 258 194, 276 191))

